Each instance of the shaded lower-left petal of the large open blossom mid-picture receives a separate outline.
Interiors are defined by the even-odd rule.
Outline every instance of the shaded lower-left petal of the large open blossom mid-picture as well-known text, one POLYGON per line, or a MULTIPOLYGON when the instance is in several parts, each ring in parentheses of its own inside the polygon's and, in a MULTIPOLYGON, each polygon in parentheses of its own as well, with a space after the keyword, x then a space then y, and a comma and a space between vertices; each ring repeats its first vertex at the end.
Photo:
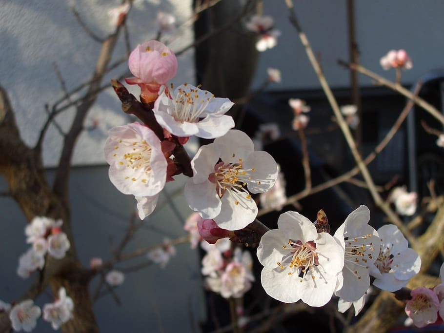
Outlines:
POLYGON ((185 199, 193 211, 199 212, 202 218, 214 218, 221 212, 222 202, 216 193, 213 183, 204 181, 194 184, 188 179, 185 184, 185 199))

